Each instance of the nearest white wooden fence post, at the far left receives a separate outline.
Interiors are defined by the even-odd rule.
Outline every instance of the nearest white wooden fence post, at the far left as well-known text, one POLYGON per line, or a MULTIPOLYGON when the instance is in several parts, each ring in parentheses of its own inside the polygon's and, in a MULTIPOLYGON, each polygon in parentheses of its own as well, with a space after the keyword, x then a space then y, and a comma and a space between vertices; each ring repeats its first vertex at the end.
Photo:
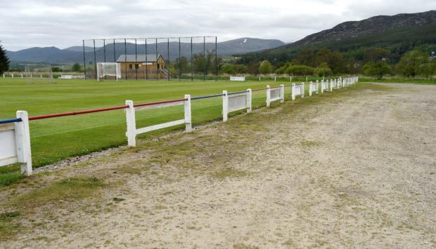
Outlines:
POLYGON ((30 149, 29 116, 26 111, 18 111, 15 123, 15 144, 17 148, 17 161, 20 163, 23 175, 32 175, 32 151, 30 149))

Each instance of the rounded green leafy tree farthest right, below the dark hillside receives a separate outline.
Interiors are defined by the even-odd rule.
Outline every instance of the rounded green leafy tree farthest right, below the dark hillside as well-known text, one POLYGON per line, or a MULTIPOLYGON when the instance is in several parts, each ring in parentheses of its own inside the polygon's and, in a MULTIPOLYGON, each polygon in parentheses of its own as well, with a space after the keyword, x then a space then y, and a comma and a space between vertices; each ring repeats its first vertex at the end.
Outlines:
POLYGON ((432 74, 430 58, 420 51, 409 51, 399 60, 397 72, 412 78, 418 75, 430 76, 432 74))

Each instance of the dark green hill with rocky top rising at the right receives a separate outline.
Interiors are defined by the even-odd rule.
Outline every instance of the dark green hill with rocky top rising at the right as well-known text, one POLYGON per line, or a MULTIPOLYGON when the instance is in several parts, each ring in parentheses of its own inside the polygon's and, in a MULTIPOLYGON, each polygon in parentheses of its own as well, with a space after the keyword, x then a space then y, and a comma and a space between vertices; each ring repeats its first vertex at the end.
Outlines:
POLYGON ((432 50, 436 48, 436 11, 378 15, 361 21, 342 22, 294 43, 241 55, 241 62, 292 60, 307 48, 338 50, 355 60, 362 60, 364 53, 371 48, 386 48, 396 59, 415 48, 432 50))

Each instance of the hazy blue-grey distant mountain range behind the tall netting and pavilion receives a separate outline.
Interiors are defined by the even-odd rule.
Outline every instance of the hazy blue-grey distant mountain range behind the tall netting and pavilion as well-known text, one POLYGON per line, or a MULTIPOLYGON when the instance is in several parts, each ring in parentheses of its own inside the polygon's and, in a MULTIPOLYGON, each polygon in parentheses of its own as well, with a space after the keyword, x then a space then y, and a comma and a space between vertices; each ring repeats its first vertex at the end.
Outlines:
MULTIPOLYGON (((156 48, 156 43, 151 43, 149 41, 147 47, 145 44, 134 43, 108 43, 105 47, 96 48, 95 57, 97 61, 112 62, 122 54, 134 54, 135 51, 138 54, 145 53, 157 53, 161 54, 165 59, 175 60, 179 58, 179 46, 180 55, 187 58, 191 58, 191 43, 179 43, 171 41, 160 42, 156 48), (114 53, 115 47, 115 53, 114 53), (168 49, 169 48, 169 49, 168 49)), ((267 40, 267 39, 254 39, 254 38, 241 38, 231 41, 224 41, 217 43, 217 53, 219 56, 222 55, 233 55, 236 53, 249 53, 253 51, 260 51, 269 48, 276 48, 278 46, 283 46, 285 43, 278 40, 267 40)), ((203 53, 205 51, 214 51, 214 43, 193 43, 193 53, 203 53)), ((9 59, 11 61, 19 62, 34 62, 34 63, 51 63, 51 64, 62 64, 62 63, 72 63, 72 62, 83 62, 83 47, 82 46, 72 46, 70 48, 59 49, 56 47, 48 48, 27 48, 22 51, 6 51, 9 59)), ((86 62, 94 62, 94 48, 85 46, 85 58, 86 62)))

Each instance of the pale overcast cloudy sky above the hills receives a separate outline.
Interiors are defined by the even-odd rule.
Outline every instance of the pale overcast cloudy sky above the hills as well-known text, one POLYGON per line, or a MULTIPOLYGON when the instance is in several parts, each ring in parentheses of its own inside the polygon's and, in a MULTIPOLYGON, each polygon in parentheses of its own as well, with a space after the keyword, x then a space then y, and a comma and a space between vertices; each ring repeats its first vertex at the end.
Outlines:
POLYGON ((9 51, 174 36, 293 42, 340 22, 431 10, 435 0, 15 0, 1 3, 0 41, 9 51))

